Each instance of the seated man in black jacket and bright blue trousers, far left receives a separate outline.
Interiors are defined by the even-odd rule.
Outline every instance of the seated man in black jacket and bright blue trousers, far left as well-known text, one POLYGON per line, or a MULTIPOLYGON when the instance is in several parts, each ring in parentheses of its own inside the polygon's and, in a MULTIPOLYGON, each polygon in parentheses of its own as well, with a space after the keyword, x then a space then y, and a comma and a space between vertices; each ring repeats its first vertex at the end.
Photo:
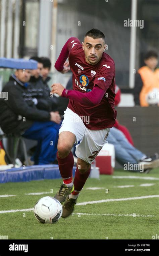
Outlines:
POLYGON ((28 91, 30 77, 30 70, 16 70, 4 86, 8 100, 0 98, 0 126, 4 133, 38 140, 35 164, 49 164, 56 159, 61 118, 58 112, 37 108, 28 91))

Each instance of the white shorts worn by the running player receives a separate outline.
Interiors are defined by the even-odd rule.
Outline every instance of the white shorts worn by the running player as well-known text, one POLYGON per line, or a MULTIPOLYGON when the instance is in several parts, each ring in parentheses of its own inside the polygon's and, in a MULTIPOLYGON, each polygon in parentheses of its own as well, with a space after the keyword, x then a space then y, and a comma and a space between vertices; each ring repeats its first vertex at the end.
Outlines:
POLYGON ((75 144, 80 141, 80 144, 76 145, 76 156, 91 164, 106 143, 110 128, 89 130, 82 121, 84 117, 80 118, 68 107, 64 113, 59 134, 63 131, 72 132, 76 136, 75 144))

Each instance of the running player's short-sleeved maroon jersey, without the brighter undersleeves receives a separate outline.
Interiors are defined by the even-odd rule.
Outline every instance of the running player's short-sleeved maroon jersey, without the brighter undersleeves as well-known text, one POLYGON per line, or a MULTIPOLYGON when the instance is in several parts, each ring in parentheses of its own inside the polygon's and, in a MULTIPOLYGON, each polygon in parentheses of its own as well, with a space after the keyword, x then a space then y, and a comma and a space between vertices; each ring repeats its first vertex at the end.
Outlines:
POLYGON ((105 91, 98 105, 88 106, 76 100, 69 99, 68 107, 78 116, 89 116, 90 123, 85 126, 90 130, 101 130, 113 127, 117 112, 114 109, 115 98, 115 64, 113 59, 103 53, 96 65, 86 62, 82 44, 78 38, 68 40, 69 65, 73 73, 73 90, 87 93, 97 85, 105 91))

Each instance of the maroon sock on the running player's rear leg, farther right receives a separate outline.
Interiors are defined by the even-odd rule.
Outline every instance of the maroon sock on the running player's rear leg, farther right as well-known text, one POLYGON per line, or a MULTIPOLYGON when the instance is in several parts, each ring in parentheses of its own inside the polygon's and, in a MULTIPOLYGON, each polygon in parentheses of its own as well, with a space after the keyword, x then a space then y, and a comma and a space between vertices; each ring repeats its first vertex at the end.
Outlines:
POLYGON ((89 168, 88 171, 86 171, 83 174, 78 170, 78 168, 76 168, 75 177, 74 177, 74 181, 73 181, 75 190, 77 190, 77 191, 82 190, 83 186, 85 185, 85 183, 87 181, 87 178, 90 175, 90 172, 91 172, 91 167, 89 168))

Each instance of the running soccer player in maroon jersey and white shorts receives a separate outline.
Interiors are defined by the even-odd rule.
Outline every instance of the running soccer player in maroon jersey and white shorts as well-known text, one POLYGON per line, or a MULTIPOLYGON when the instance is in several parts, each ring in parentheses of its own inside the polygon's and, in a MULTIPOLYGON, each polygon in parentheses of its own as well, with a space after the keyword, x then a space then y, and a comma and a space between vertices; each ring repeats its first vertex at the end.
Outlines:
POLYGON ((82 44, 76 37, 69 38, 55 63, 58 71, 65 73, 71 69, 73 73, 73 90, 66 90, 60 83, 52 85, 52 93, 69 98, 57 147, 63 184, 54 196, 64 202, 63 218, 73 212, 77 197, 89 177, 91 163, 115 124, 115 64, 104 53, 105 49, 104 34, 92 29, 86 33, 82 44), (67 58, 69 63, 65 62, 67 58), (77 168, 72 181, 74 160, 71 149, 74 144, 77 168))

